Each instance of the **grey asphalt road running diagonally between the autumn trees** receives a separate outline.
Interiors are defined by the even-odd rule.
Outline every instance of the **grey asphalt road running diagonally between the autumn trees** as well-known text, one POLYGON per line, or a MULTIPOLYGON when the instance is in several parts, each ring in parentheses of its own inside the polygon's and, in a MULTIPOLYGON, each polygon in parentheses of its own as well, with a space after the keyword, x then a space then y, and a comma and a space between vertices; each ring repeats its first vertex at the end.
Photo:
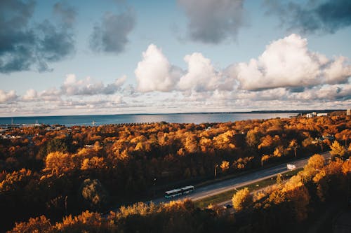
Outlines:
MULTIPOLYGON (((321 153, 321 155, 323 155, 325 158, 330 157, 329 152, 321 153)), ((296 169, 298 169, 298 168, 304 167, 305 164, 307 164, 308 159, 309 157, 301 160, 289 162, 289 164, 295 164, 296 169)), ((225 192, 227 190, 232 190, 234 188, 239 188, 244 185, 249 185, 250 183, 255 183, 257 181, 264 180, 266 178, 277 176, 277 174, 288 171, 286 168, 286 164, 288 163, 280 164, 275 167, 270 167, 260 171, 254 171, 250 174, 237 176, 235 178, 231 178, 225 181, 219 181, 218 183, 212 183, 211 185, 206 185, 200 188, 197 188, 195 186, 195 191, 189 195, 182 195, 180 197, 174 197, 171 199, 166 199, 162 197, 158 199, 153 199, 151 200, 151 202, 154 202, 155 204, 159 204, 160 202, 170 202, 173 200, 185 199, 185 198, 191 199, 192 201, 197 201, 199 199, 204 199, 205 197, 210 197, 210 196, 219 194, 221 192, 225 192)))

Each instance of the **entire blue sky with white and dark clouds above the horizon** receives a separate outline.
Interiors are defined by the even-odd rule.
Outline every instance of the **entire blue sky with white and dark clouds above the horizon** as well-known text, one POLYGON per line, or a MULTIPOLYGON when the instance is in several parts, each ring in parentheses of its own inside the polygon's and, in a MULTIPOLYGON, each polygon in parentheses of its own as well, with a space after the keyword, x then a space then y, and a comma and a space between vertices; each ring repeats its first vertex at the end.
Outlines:
POLYGON ((0 1, 0 116, 351 108, 349 0, 0 1))

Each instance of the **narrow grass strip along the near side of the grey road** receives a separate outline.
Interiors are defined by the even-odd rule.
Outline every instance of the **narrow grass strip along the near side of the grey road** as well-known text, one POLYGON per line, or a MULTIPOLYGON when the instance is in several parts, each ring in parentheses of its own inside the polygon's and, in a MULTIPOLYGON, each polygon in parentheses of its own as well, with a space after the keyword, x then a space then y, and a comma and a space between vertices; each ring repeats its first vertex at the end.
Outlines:
MULTIPOLYGON (((302 169, 296 169, 294 171, 287 171, 284 172, 282 175, 284 176, 284 179, 289 179, 291 178, 291 176, 294 176, 298 173, 298 171, 301 171, 302 169)), ((200 199, 197 200, 196 202, 194 202, 195 206, 199 207, 199 208, 206 208, 209 204, 218 204, 221 202, 225 202, 227 200, 232 199, 233 195, 235 192, 237 192, 237 190, 241 189, 241 188, 249 188, 250 192, 253 192, 255 190, 259 190, 261 188, 265 188, 267 186, 270 185, 274 185, 274 183, 276 183, 277 180, 277 176, 273 176, 272 178, 267 178, 265 180, 262 181, 258 181, 255 183, 251 183, 249 185, 244 185, 241 186, 239 188, 233 188, 232 190, 229 191, 225 191, 225 192, 221 192, 218 195, 213 195, 211 197, 206 197, 204 199, 200 199)))

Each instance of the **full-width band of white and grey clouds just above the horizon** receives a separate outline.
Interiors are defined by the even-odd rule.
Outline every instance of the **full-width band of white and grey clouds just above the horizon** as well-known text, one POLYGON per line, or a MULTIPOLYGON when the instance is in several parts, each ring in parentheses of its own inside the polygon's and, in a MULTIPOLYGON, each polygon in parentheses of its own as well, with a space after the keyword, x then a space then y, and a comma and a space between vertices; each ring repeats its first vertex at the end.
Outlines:
POLYGON ((0 107, 26 114, 348 108, 349 60, 326 57, 307 45, 305 38, 291 34, 270 42, 257 58, 225 69, 194 52, 185 55, 187 69, 183 70, 151 44, 136 65, 135 87, 125 85, 126 76, 105 85, 67 74, 60 87, 27 90, 22 97, 13 90, 0 90, 0 107))

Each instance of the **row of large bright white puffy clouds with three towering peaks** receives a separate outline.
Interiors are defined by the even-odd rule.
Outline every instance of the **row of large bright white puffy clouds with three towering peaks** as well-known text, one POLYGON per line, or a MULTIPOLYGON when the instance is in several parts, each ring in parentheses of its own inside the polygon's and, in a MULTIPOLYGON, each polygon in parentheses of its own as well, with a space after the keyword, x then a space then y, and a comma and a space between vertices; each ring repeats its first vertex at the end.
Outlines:
POLYGON ((168 62, 156 45, 143 52, 135 69, 140 92, 215 90, 260 91, 279 87, 303 92, 318 85, 347 84, 351 65, 346 57, 327 58, 307 48, 307 39, 291 34, 266 46, 257 59, 216 69, 211 60, 199 52, 185 55, 187 70, 168 62), (178 72, 174 72, 174 71, 178 72))

